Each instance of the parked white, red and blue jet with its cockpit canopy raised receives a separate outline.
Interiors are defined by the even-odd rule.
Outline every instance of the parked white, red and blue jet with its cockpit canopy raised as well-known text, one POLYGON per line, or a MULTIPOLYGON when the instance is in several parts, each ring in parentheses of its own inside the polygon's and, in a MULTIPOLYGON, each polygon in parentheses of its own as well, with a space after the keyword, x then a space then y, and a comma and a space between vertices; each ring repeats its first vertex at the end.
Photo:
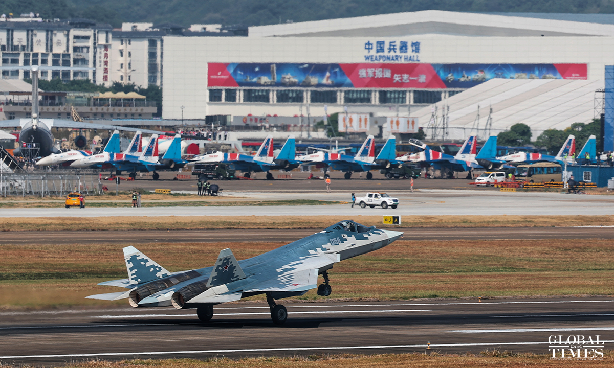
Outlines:
POLYGON ((472 168, 481 167, 475 160, 477 150, 476 144, 476 137, 469 136, 461 146, 461 149, 454 156, 439 151, 433 151, 425 144, 417 145, 423 148, 424 151, 411 155, 403 155, 397 159, 408 163, 419 163, 422 166, 432 166, 435 170, 448 169, 449 172, 468 171, 472 168))

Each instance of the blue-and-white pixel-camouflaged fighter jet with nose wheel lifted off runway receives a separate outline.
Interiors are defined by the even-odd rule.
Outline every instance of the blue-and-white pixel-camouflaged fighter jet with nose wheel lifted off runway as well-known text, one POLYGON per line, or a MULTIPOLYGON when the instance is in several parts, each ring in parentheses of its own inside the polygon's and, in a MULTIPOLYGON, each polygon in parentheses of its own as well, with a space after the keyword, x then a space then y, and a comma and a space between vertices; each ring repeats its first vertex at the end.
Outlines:
POLYGON ((330 295, 328 270, 335 263, 386 247, 402 235, 347 220, 254 258, 237 261, 227 248, 220 251, 213 267, 173 273, 136 248, 126 247, 123 255, 128 278, 98 285, 129 290, 87 298, 108 301, 127 298, 133 307, 195 308, 198 318, 208 322, 215 304, 265 294, 271 319, 283 324, 287 310, 276 304, 275 299, 303 295, 314 288, 318 295, 330 295), (324 277, 320 286, 318 275, 324 277))

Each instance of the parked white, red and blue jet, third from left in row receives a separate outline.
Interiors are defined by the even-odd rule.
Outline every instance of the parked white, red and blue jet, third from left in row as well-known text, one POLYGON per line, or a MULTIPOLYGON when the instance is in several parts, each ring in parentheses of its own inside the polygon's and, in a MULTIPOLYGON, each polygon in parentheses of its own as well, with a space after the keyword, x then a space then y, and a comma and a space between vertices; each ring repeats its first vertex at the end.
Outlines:
POLYGON ((266 178, 271 180, 273 174, 269 171, 290 171, 301 163, 295 158, 294 140, 294 136, 289 136, 277 157, 273 155, 273 136, 268 135, 258 148, 255 156, 217 151, 208 155, 196 156, 190 161, 190 165, 228 164, 231 169, 244 172, 244 177, 249 178, 252 172, 266 172, 266 178))

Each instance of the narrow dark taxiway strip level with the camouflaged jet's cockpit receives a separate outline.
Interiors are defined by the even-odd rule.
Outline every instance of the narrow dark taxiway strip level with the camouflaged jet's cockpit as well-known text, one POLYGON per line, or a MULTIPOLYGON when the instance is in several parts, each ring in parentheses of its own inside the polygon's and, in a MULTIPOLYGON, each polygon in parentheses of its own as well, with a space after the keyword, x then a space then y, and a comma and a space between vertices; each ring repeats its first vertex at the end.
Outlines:
MULTIPOLYGON (((383 227, 383 229, 387 229, 383 227)), ((390 228, 403 240, 614 239, 613 228, 390 228)), ((317 229, 173 231, 6 231, 0 244, 293 242, 317 229)))

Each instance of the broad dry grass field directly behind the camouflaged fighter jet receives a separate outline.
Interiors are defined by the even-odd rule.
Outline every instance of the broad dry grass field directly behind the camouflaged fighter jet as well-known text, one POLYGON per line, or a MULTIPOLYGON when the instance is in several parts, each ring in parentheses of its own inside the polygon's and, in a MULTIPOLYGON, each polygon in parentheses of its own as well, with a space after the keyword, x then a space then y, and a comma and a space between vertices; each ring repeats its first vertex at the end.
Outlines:
MULTIPOLYGON (((223 248, 244 259, 281 245, 146 243, 138 248, 168 270, 178 271, 212 266, 223 248)), ((109 305, 83 298, 117 290, 96 283, 126 277, 122 247, 114 243, 1 245, 0 307, 109 305)), ((330 272, 330 298, 612 295, 613 269, 611 240, 397 240, 336 264, 330 272)), ((315 291, 296 299, 324 300, 315 291)))

